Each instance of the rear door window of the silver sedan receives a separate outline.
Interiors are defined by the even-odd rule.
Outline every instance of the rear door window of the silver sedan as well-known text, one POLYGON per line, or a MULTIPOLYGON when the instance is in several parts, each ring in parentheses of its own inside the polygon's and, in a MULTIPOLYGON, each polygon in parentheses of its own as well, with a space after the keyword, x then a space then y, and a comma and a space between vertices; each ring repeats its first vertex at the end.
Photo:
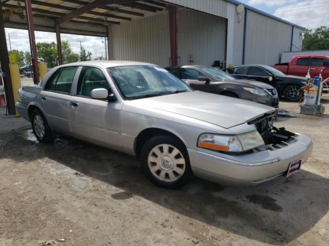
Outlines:
POLYGON ((48 80, 45 90, 70 93, 77 69, 78 67, 68 67, 57 70, 48 80))

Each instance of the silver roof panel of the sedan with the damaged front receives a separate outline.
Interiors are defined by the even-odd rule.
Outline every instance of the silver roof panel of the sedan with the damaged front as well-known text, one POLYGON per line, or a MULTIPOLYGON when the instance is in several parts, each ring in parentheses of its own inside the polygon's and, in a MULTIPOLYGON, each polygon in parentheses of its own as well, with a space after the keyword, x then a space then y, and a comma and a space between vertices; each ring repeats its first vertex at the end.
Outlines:
POLYGON ((130 61, 130 60, 88 60, 88 61, 78 61, 76 63, 69 63, 60 67, 70 67, 70 66, 102 66, 104 68, 120 67, 120 66, 157 66, 151 63, 142 63, 140 61, 130 61))

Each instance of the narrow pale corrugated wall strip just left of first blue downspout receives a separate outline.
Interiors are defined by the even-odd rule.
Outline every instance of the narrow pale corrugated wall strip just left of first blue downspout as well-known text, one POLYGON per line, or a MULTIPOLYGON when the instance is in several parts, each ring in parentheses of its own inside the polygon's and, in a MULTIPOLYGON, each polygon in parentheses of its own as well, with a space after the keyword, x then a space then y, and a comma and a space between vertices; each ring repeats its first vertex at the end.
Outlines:
POLYGON ((244 15, 244 12, 241 13, 239 22, 239 16, 236 14, 236 5, 227 4, 227 67, 230 64, 240 65, 242 63, 244 15))

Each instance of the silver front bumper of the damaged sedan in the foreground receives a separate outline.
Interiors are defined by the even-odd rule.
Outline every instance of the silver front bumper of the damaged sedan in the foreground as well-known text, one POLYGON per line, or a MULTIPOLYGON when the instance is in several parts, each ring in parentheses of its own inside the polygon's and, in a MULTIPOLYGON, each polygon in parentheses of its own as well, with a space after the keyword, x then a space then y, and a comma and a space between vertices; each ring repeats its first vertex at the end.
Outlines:
POLYGON ((312 140, 297 135, 296 141, 276 150, 243 155, 226 155, 202 148, 188 149, 195 176, 232 186, 250 186, 284 176, 288 165, 304 163, 312 153, 312 140))

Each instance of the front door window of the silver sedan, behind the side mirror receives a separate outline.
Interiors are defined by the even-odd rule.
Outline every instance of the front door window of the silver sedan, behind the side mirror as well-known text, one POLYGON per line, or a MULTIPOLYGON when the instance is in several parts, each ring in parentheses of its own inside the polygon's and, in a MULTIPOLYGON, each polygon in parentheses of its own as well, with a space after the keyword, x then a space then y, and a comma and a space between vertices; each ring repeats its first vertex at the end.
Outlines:
POLYGON ((109 91, 108 82, 98 68, 83 67, 79 76, 77 95, 91 97, 94 89, 104 88, 109 91))

